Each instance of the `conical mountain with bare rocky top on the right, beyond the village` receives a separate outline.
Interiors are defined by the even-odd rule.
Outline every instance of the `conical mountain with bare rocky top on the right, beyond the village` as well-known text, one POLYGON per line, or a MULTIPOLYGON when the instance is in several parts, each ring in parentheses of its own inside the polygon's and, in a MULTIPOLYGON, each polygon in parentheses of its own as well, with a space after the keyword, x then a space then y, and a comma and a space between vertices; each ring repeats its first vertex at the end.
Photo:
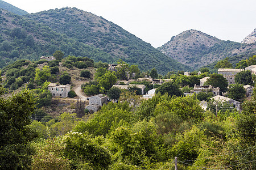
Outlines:
POLYGON ((172 37, 158 50, 170 58, 177 59, 184 65, 192 67, 192 69, 198 69, 226 57, 254 53, 256 52, 256 44, 223 41, 191 29, 172 37))

